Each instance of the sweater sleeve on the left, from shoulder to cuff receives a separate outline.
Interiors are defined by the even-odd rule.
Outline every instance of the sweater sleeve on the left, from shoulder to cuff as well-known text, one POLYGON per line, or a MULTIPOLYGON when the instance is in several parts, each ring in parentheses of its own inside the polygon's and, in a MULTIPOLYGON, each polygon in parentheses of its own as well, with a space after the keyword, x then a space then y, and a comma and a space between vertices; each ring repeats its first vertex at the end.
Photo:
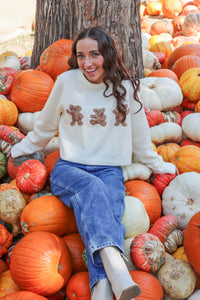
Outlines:
POLYGON ((34 124, 33 131, 29 132, 20 143, 12 147, 11 156, 13 158, 42 150, 58 132, 61 94, 62 84, 57 79, 39 118, 34 124))

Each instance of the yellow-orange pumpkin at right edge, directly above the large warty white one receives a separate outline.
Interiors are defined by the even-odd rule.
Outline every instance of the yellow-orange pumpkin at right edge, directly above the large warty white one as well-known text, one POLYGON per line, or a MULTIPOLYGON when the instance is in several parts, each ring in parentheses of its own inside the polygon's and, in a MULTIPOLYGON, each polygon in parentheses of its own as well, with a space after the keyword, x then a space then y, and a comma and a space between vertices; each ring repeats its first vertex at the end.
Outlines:
POLYGON ((200 148, 194 145, 181 147, 171 161, 180 174, 185 172, 200 173, 200 148))

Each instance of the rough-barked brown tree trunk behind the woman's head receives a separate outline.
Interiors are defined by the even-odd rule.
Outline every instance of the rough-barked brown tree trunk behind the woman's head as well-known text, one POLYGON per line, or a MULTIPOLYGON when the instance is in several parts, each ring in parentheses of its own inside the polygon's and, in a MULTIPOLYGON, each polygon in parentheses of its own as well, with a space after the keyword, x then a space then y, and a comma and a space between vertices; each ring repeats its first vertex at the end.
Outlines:
POLYGON ((32 66, 54 41, 74 39, 84 28, 106 28, 121 50, 123 62, 137 78, 143 77, 140 0, 37 0, 32 66))

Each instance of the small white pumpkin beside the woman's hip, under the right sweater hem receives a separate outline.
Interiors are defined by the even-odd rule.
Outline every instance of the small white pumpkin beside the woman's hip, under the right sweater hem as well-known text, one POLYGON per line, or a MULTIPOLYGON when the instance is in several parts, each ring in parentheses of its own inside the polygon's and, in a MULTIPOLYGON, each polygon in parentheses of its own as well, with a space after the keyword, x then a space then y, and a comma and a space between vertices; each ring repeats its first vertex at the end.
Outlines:
POLYGON ((122 166, 124 181, 131 179, 146 180, 150 177, 152 171, 142 163, 132 163, 129 166, 122 166))

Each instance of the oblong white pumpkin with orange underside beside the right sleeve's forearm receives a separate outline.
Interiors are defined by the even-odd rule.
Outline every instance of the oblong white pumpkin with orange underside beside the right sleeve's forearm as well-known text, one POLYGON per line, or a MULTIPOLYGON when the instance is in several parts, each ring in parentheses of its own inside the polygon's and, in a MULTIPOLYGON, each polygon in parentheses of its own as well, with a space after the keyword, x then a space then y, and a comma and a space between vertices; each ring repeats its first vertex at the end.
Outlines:
POLYGON ((155 145, 167 142, 179 143, 183 138, 182 127, 174 122, 165 122, 150 128, 151 141, 155 145))

